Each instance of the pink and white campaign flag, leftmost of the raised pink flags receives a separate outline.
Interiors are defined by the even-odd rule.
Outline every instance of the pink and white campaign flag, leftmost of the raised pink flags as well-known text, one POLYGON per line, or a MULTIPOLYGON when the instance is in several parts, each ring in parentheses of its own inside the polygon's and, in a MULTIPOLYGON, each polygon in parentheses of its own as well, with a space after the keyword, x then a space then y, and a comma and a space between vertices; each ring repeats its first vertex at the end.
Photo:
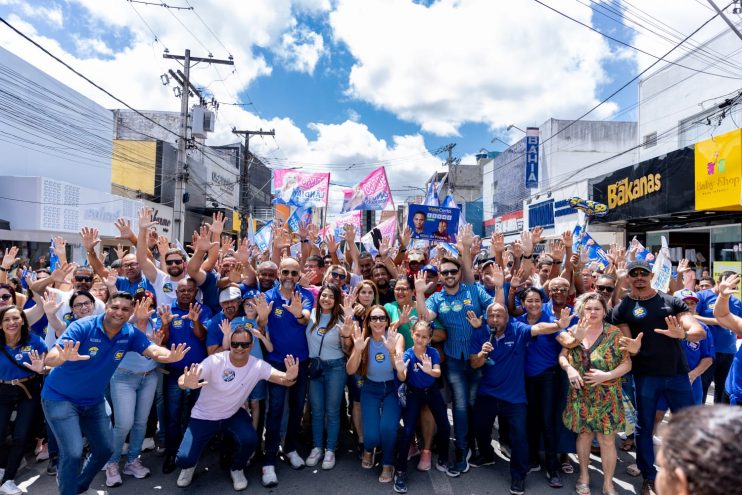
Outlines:
POLYGON ((330 174, 276 169, 273 171, 273 203, 299 207, 326 207, 330 174))

